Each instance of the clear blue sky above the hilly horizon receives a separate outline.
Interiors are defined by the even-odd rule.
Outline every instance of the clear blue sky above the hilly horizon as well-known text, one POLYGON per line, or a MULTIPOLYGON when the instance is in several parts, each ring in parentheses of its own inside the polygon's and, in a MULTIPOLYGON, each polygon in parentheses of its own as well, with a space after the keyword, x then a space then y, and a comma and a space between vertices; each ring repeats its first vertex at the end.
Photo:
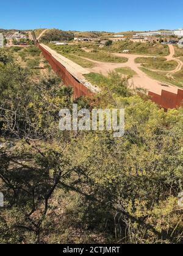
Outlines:
POLYGON ((183 27, 182 0, 9 0, 0 4, 0 28, 146 31, 183 27))

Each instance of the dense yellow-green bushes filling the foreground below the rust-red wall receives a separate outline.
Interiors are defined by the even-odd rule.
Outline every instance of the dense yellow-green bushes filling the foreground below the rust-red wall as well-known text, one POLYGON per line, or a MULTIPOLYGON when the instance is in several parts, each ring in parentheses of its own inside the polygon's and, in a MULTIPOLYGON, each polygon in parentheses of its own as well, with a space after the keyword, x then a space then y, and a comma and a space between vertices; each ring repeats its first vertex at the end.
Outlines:
POLYGON ((0 65, 1 243, 181 243, 182 108, 164 112, 117 73, 74 101, 57 77, 0 65), (122 138, 61 132, 59 110, 125 108, 122 138))

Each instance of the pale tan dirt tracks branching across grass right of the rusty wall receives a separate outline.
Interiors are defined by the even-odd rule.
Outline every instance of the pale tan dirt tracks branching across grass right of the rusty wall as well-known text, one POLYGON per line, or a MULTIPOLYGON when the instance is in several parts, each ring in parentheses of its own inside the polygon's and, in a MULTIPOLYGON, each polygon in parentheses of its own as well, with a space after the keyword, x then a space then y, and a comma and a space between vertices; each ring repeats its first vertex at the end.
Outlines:
MULTIPOLYGON (((44 32, 44 31, 43 31, 44 32)), ((42 32, 42 33, 43 33, 42 32)), ((99 62, 96 60, 90 60, 90 62, 95 63, 95 67, 93 68, 82 68, 80 65, 77 65, 76 63, 72 62, 71 60, 63 57, 62 55, 56 53, 56 51, 50 49, 48 46, 45 46, 41 44, 44 48, 46 48, 49 53, 51 53, 57 60, 59 60, 60 63, 62 63, 68 71, 70 71, 71 74, 74 74, 79 79, 84 79, 84 74, 90 73, 90 72, 95 72, 95 73, 102 73, 103 75, 107 75, 109 71, 114 70, 115 68, 120 68, 120 67, 129 67, 132 70, 135 71, 137 75, 135 75, 132 79, 129 80, 129 84, 132 87, 140 87, 146 90, 150 90, 151 92, 161 94, 162 89, 167 90, 168 92, 173 92, 177 93, 178 92, 178 87, 176 86, 171 86, 170 84, 166 84, 165 82, 160 82, 155 79, 149 78, 146 73, 144 73, 142 70, 140 70, 140 65, 135 63, 135 59, 137 57, 151 57, 151 56, 143 56, 143 55, 138 55, 138 54, 123 54, 123 53, 113 53, 115 56, 120 56, 120 57, 126 57, 128 60, 126 63, 108 63, 108 62, 99 62)), ((173 57, 174 56, 174 48, 172 45, 170 45, 170 54, 167 56, 167 60, 174 59, 178 62, 178 67, 176 67, 175 70, 171 71, 171 74, 175 73, 176 71, 181 70, 182 68, 182 61, 179 59, 176 59, 173 57)))

